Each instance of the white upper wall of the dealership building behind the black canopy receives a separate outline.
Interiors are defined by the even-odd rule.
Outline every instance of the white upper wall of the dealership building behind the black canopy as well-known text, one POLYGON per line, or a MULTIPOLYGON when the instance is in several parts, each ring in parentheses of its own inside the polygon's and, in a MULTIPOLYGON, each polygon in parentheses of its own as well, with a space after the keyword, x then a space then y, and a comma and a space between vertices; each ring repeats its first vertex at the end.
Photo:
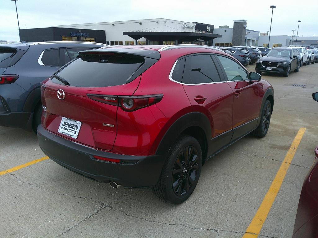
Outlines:
MULTIPOLYGON (((122 41, 123 44, 125 44, 125 41, 134 41, 134 39, 130 36, 124 36, 122 34, 123 31, 195 32, 195 23, 181 22, 164 18, 120 22, 85 23, 53 27, 105 30, 106 41, 122 41), (184 23, 188 26, 185 29, 183 27, 184 23), (194 26, 194 28, 190 28, 189 26, 194 26)), ((145 38, 141 38, 138 41, 145 40, 145 38)))

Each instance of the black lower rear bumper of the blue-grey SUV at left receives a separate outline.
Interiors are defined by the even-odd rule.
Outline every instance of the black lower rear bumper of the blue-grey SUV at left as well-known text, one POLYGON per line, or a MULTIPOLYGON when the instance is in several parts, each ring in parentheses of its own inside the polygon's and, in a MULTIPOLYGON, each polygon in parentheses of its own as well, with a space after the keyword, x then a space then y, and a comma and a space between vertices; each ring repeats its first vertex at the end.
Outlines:
POLYGON ((32 129, 33 112, 0 113, 0 125, 32 129))

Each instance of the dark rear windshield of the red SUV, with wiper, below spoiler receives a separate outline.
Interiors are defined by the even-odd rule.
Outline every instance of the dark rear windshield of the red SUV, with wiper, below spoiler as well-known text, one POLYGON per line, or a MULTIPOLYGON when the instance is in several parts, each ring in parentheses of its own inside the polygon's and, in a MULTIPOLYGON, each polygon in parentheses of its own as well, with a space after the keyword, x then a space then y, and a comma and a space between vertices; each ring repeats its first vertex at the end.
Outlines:
POLYGON ((145 62, 144 57, 123 53, 91 52, 80 56, 62 68, 54 83, 76 87, 108 87, 130 82, 133 74, 145 62))

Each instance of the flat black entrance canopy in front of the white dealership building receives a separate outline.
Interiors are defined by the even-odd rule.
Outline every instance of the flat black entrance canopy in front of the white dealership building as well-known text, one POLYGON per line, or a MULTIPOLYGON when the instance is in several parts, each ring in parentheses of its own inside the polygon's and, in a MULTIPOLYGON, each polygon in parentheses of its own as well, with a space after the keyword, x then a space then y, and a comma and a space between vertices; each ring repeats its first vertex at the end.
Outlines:
POLYGON ((209 41, 222 35, 198 32, 162 32, 162 31, 124 31, 123 35, 130 36, 134 40, 144 37, 149 41, 209 41))

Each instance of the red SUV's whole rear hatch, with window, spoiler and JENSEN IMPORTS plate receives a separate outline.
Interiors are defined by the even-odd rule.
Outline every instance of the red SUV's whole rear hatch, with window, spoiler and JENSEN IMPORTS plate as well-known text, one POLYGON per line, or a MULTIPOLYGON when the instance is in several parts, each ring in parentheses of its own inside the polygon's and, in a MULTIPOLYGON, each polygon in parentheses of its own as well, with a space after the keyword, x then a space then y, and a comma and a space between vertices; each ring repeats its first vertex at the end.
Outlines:
POLYGON ((83 51, 43 84, 43 127, 74 142, 113 148, 118 96, 132 96, 140 74, 157 61, 118 49, 83 51))

